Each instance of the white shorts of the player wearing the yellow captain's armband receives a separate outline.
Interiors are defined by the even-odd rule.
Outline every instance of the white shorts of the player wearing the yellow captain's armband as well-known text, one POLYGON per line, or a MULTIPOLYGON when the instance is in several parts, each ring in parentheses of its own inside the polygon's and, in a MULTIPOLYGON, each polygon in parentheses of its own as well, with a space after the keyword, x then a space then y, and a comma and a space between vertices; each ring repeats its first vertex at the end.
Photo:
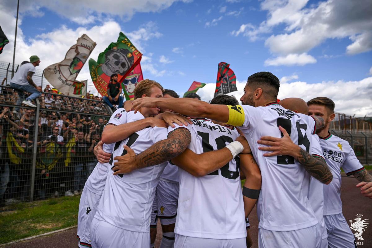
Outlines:
POLYGON ((319 248, 321 233, 318 225, 294 231, 259 229, 259 248, 319 248))

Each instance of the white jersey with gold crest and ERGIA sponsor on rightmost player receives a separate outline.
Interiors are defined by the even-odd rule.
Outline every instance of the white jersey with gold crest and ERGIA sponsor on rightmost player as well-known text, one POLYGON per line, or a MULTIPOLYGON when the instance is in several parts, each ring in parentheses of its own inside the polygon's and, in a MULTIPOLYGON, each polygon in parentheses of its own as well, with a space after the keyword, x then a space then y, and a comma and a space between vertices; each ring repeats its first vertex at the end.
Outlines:
POLYGON ((349 142, 332 134, 320 138, 323 156, 332 172, 333 179, 328 185, 323 185, 324 212, 323 215, 335 215, 342 213, 341 202, 341 167, 347 176, 364 170, 362 164, 356 158, 354 150, 349 142))

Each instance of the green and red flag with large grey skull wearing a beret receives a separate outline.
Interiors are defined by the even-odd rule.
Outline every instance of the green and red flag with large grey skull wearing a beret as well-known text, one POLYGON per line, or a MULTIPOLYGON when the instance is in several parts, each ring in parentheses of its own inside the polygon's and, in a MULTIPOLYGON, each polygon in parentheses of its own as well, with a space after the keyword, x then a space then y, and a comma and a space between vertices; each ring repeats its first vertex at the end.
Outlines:
POLYGON ((122 83, 140 63, 141 57, 142 53, 120 32, 118 41, 112 42, 100 53, 97 62, 89 60, 90 76, 99 94, 107 96, 106 89, 112 74, 117 74, 118 82, 122 83))

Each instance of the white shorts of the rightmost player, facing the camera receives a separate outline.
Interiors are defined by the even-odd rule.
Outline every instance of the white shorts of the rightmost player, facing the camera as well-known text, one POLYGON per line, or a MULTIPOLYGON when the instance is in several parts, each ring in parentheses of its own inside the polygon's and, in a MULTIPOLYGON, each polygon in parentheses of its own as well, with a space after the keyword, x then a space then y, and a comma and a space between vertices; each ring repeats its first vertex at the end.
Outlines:
POLYGON ((325 227, 328 233, 328 247, 355 248, 355 237, 342 213, 324 215, 325 227))

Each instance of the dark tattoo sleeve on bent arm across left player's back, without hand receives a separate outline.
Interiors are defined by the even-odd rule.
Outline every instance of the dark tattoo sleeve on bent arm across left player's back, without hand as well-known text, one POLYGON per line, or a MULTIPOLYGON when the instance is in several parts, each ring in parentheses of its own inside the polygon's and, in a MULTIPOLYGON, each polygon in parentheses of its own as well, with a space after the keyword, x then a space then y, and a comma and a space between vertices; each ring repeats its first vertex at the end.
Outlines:
POLYGON ((190 131, 178 128, 171 132, 166 140, 158 141, 149 149, 136 156, 138 168, 163 163, 183 153, 191 141, 190 131))

